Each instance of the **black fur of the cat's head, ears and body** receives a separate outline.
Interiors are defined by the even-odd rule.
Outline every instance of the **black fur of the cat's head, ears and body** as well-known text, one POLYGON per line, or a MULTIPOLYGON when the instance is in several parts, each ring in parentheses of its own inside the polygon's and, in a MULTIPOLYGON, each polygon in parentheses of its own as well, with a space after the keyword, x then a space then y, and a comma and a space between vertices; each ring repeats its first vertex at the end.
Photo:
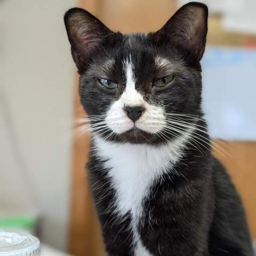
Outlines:
MULTIPOLYGON (((93 15, 78 8, 66 13, 65 25, 81 75, 81 103, 88 115, 106 113, 108 106, 120 97, 126 83, 122 61, 131 58, 136 89, 147 102, 164 106, 166 113, 195 115, 201 119, 197 123, 201 131, 194 133, 201 140, 192 138, 187 143, 174 171, 156 180, 143 201, 138 231, 147 250, 154 256, 252 256, 241 199, 206 143, 209 136, 201 110, 199 61, 206 42, 207 7, 189 3, 162 29, 148 35, 113 33, 93 15), (167 59, 171 65, 157 68, 156 56, 167 59), (114 66, 104 64, 109 59, 114 60, 114 66), (154 81, 170 74, 175 76, 171 85, 152 86, 154 81), (117 89, 106 89, 98 82, 99 78, 117 83, 117 89)), ((191 122, 191 119, 184 117, 184 121, 191 122)), ((172 141, 180 133, 164 132, 164 135, 172 141)), ((165 143, 160 136, 142 131, 116 134, 109 140, 154 143, 156 147, 165 143)), ((120 218, 114 211, 116 191, 108 178, 109 170, 95 156, 93 140, 87 169, 106 251, 111 256, 132 256, 131 215, 127 212, 120 218), (93 187, 95 183, 97 188, 93 187)))

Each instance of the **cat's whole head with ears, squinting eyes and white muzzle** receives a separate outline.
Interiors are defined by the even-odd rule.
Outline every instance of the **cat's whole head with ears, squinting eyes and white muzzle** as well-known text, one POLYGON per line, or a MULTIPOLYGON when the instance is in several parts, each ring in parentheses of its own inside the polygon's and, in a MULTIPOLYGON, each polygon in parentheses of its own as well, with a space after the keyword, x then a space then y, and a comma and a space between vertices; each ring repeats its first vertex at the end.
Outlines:
POLYGON ((201 117, 207 7, 182 6, 155 33, 122 35, 83 9, 65 25, 95 136, 130 143, 178 138, 201 117))

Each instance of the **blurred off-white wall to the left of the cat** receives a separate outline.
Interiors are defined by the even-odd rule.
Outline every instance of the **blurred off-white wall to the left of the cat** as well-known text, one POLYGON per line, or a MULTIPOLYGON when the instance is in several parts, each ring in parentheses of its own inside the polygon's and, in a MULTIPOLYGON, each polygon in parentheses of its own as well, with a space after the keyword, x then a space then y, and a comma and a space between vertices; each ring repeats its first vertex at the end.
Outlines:
POLYGON ((76 5, 0 3, 0 209, 38 212, 42 241, 63 250, 75 71, 63 14, 76 5))

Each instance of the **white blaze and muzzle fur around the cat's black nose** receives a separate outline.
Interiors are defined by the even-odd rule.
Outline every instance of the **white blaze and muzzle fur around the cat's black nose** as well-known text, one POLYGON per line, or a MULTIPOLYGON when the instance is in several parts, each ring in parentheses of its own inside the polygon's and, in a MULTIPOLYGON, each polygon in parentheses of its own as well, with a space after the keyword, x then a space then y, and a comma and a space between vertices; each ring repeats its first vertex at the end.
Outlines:
POLYGON ((105 118, 107 126, 118 134, 131 130, 134 125, 150 133, 161 131, 166 123, 164 109, 146 102, 142 95, 135 89, 132 61, 127 59, 123 63, 123 67, 126 75, 126 87, 121 97, 115 101, 107 111, 105 118), (123 109, 124 106, 142 106, 146 110, 134 124, 133 121, 127 117, 123 109))

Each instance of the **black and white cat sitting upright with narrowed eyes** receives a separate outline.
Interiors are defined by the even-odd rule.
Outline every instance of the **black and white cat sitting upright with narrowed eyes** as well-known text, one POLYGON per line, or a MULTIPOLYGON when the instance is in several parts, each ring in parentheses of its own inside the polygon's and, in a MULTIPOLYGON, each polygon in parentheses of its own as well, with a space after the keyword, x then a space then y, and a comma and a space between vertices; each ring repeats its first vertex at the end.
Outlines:
POLYGON ((114 33, 78 8, 65 25, 108 255, 252 256, 241 200, 211 154, 201 110, 207 7, 184 5, 147 35, 114 33))

